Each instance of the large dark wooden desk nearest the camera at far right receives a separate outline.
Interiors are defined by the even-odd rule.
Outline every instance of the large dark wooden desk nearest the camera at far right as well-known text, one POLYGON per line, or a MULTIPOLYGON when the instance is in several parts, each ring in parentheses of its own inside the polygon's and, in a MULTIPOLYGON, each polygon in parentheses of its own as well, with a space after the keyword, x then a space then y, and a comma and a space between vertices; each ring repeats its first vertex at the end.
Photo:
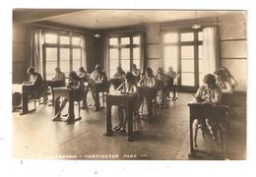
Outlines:
MULTIPOLYGON (((193 156, 195 152, 202 152, 201 150, 194 148, 193 142, 193 122, 198 118, 218 118, 227 120, 227 129, 228 129, 228 107, 225 105, 217 104, 204 104, 204 103, 188 103, 189 106, 189 135, 190 135, 190 156, 193 156)), ((228 131, 226 131, 228 132, 228 131)), ((227 140, 226 140, 227 148, 227 140)))

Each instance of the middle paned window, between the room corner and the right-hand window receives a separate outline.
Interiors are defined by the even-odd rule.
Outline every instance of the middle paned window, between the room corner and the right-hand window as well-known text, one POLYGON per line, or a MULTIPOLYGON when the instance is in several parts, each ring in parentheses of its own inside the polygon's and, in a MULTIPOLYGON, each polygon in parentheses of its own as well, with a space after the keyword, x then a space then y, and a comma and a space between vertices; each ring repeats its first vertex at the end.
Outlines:
POLYGON ((125 72, 131 70, 133 64, 138 69, 142 67, 141 35, 109 36, 108 40, 109 71, 110 77, 121 66, 125 72))

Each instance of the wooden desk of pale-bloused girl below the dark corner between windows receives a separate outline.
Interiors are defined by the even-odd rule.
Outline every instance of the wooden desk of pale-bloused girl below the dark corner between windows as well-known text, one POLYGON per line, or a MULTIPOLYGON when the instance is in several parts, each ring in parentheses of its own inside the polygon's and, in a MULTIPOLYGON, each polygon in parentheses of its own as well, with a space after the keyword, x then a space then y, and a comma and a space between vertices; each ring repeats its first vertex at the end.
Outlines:
POLYGON ((89 87, 92 91, 92 93, 96 94, 96 110, 99 109, 99 92, 109 92, 109 87, 107 84, 102 84, 102 83, 95 83, 95 82, 90 82, 89 87))

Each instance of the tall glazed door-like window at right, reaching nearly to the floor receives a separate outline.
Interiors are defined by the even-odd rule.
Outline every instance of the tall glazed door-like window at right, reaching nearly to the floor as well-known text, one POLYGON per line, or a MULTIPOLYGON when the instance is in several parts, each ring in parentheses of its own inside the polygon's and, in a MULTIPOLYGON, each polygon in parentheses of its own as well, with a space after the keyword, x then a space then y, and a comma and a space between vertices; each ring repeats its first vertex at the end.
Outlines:
POLYGON ((202 31, 180 29, 163 33, 163 66, 171 66, 180 76, 182 87, 202 84, 202 31))

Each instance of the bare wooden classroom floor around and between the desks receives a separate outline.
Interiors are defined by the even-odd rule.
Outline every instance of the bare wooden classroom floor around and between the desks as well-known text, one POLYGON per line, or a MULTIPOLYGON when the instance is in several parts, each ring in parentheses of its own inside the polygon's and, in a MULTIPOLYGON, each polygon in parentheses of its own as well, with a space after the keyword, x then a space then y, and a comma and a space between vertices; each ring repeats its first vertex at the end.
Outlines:
MULTIPOLYGON (((198 148, 210 153, 188 157, 191 94, 180 93, 166 109, 158 110, 155 120, 142 120, 143 133, 135 142, 124 136, 105 137, 105 109, 82 111, 74 125, 52 122, 53 108, 40 105, 35 112, 13 113, 13 156, 16 158, 71 159, 222 159, 224 150, 208 137, 198 135, 198 148), (220 157, 221 156, 221 157, 220 157)), ((228 159, 246 158, 246 101, 235 97, 235 117, 230 120, 228 159)), ((77 109, 77 107, 75 107, 77 109)), ((117 111, 112 108, 113 126, 117 111)))

